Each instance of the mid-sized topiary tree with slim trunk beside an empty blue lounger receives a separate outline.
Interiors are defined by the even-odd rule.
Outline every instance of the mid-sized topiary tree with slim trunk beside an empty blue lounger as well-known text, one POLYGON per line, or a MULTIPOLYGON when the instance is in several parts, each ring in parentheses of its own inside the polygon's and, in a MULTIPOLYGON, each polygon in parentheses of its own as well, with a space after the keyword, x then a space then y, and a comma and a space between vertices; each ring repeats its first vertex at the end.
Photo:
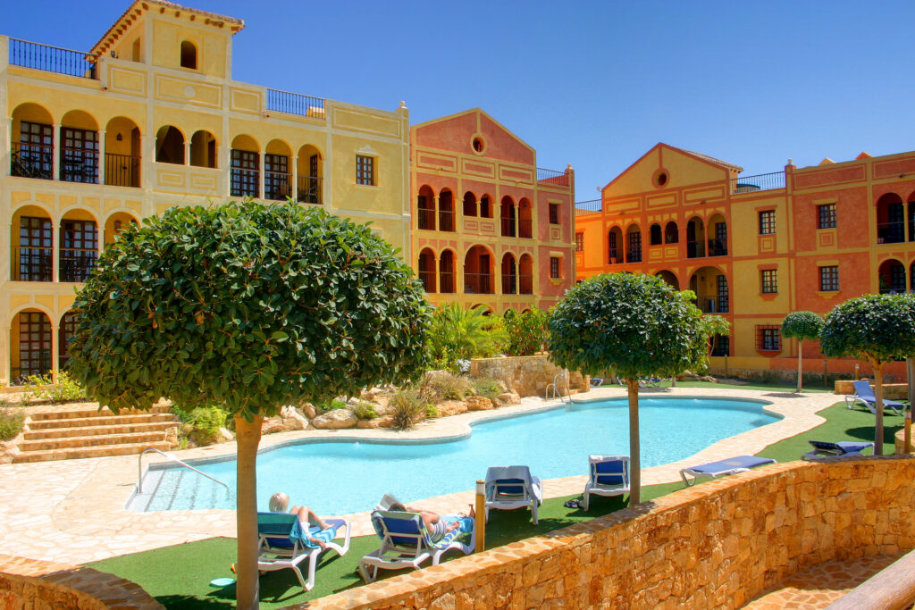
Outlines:
POLYGON ((677 375, 705 358, 702 312, 660 277, 610 273, 578 284, 550 316, 550 359, 588 375, 613 369, 630 407, 630 504, 641 499, 639 378, 677 375))

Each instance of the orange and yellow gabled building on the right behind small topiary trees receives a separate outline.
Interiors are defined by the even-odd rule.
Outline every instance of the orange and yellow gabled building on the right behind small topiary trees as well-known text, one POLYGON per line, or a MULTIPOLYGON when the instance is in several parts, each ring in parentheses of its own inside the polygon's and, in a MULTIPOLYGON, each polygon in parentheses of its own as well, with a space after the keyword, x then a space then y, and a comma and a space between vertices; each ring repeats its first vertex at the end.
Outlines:
MULTIPOLYGON (((868 293, 915 288, 915 153, 739 176, 742 168, 657 144, 576 207, 576 275, 661 275, 732 323, 713 339, 716 372, 796 369, 780 337, 791 311, 826 314, 868 293)), ((804 369, 852 373, 803 344, 804 369)), ((889 375, 904 377, 904 363, 889 375)))

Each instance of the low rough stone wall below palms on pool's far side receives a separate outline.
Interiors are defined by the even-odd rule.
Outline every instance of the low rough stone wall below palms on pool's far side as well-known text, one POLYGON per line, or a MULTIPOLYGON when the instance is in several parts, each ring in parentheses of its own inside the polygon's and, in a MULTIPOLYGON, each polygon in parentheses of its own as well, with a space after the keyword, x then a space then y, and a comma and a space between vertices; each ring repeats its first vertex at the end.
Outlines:
POLYGON ((548 356, 511 356, 470 360, 472 377, 491 377, 505 382, 522 396, 543 396, 557 373, 565 372, 572 390, 588 391, 590 383, 581 373, 560 369, 548 356))

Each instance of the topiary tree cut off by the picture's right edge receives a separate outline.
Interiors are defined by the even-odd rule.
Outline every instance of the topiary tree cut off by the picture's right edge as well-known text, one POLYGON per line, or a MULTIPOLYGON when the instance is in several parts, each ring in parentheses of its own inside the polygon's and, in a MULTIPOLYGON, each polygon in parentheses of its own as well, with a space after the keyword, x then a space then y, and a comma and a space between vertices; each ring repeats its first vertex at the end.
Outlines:
POLYGON ((874 368, 874 454, 883 455, 883 365, 915 355, 915 297, 865 294, 835 305, 820 332, 826 356, 851 356, 874 368))

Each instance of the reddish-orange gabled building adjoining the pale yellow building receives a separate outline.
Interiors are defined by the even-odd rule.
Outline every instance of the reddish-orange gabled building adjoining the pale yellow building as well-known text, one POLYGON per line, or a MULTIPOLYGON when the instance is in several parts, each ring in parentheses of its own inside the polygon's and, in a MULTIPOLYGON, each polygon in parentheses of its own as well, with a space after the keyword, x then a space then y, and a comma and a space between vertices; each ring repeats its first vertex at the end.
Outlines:
POLYGON ((477 109, 410 130, 411 260, 434 304, 554 305, 575 278, 575 174, 477 109))

